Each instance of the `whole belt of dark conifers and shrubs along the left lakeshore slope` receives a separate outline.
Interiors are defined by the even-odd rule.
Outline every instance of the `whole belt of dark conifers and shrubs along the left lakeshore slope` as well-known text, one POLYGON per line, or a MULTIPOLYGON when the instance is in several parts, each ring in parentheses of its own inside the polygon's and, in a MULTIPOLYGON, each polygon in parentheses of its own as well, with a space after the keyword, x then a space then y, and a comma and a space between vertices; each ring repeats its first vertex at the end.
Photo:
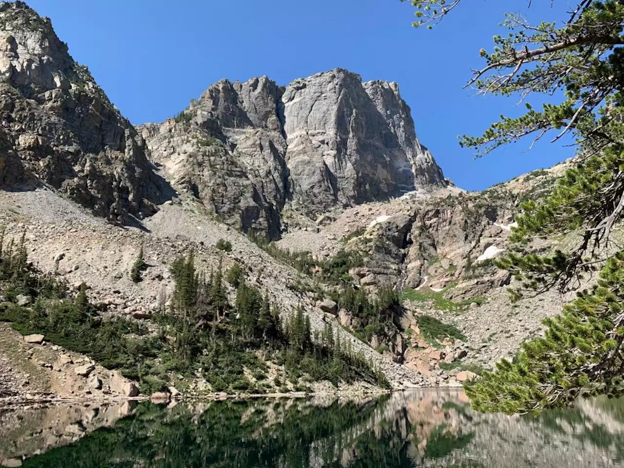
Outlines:
MULTIPOLYGON (((166 387, 172 374, 192 378, 201 373, 215 391, 264 392, 246 379, 244 369, 266 372, 265 359, 283 364, 290 378, 305 376, 352 383, 364 380, 388 386, 384 375, 350 343, 341 343, 331 326, 313 336, 303 311, 281 322, 267 295, 238 276, 235 305, 227 300, 221 266, 206 278, 195 270, 192 253, 173 261, 172 308, 156 314, 158 329, 125 319, 102 319, 89 303, 84 285, 74 297, 66 285, 42 275, 27 263, 24 238, 4 245, 0 235, 0 290, 10 303, 0 307, 0 320, 17 331, 42 333, 46 340, 85 353, 109 369, 140 381, 144 393, 166 387), (18 295, 34 305, 18 306, 18 295), (313 339, 314 338, 314 339, 313 339)), ((230 271, 231 273, 231 271, 230 271)))

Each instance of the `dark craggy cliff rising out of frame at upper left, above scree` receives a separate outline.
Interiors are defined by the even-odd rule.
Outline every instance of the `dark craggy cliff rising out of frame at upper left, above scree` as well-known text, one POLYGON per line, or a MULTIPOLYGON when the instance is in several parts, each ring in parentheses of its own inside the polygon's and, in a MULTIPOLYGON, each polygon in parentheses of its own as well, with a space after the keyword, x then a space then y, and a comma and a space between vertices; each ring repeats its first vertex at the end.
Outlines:
POLYGON ((115 222, 154 211, 144 140, 21 1, 0 3, 0 122, 0 186, 46 183, 115 222))

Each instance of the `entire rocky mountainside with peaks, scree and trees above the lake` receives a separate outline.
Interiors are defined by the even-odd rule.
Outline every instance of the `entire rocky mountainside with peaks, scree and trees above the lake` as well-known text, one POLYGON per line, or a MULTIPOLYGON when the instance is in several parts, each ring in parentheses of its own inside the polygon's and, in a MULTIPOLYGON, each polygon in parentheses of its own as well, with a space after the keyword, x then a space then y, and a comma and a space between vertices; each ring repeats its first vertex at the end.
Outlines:
POLYGON ((2 2, 0 397, 461 386, 560 311, 510 304, 492 260, 567 165, 466 193, 398 85, 344 69, 221 80, 134 127, 2 2))

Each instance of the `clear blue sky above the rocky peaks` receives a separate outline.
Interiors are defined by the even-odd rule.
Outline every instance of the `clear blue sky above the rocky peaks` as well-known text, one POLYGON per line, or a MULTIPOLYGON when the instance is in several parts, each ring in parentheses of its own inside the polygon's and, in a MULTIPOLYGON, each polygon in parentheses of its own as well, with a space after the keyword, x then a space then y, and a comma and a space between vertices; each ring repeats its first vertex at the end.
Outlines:
MULTIPOLYGON (((213 82, 267 75, 279 84, 343 67, 364 80, 399 83, 416 133, 447 177, 467 190, 549 167, 573 155, 549 139, 530 152, 520 142, 480 160, 457 144, 514 98, 462 89, 482 65, 504 11, 561 20, 568 0, 464 0, 432 31, 412 28, 414 8, 399 0, 28 0, 52 19, 76 61, 134 124, 177 114, 213 82)), ((532 104, 538 99, 530 99, 532 104)))

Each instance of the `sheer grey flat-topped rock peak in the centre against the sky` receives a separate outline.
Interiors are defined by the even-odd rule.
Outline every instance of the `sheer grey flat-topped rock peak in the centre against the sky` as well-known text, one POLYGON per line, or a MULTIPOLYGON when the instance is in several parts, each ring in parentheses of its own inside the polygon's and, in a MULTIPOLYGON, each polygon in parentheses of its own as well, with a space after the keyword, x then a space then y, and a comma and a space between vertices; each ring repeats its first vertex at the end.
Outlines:
POLYGON ((221 80, 141 127, 152 158, 230 225, 278 238, 298 217, 446 185, 395 83, 343 69, 221 80))

